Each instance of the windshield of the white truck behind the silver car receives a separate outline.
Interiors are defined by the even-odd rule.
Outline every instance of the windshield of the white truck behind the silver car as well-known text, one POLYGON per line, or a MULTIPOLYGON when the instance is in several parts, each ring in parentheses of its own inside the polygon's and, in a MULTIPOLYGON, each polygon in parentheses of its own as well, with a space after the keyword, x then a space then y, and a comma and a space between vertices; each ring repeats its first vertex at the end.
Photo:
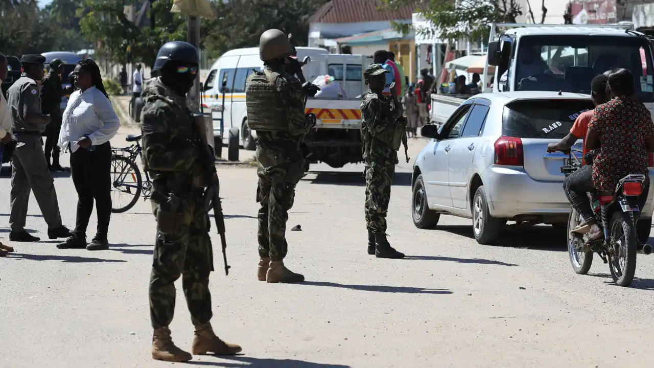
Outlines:
POLYGON ((591 93, 591 81, 623 67, 636 79, 636 96, 654 101, 654 69, 649 44, 640 37, 546 35, 521 37, 515 90, 591 93))

